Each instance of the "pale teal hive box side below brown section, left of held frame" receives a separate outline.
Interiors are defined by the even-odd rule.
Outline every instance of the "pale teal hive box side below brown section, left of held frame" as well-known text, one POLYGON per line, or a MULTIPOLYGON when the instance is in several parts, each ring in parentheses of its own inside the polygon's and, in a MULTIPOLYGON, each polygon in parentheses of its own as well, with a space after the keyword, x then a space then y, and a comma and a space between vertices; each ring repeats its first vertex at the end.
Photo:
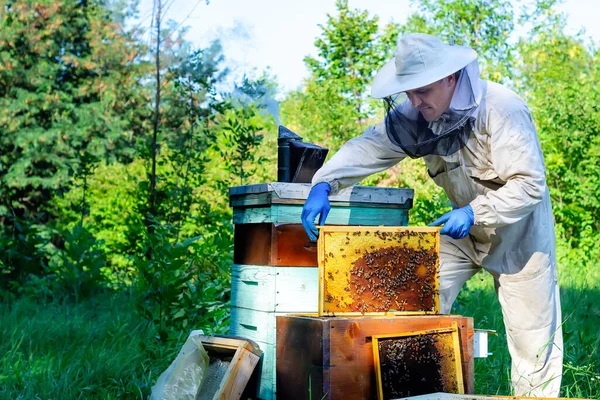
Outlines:
POLYGON ((280 313, 317 312, 318 268, 276 268, 275 311, 280 313))

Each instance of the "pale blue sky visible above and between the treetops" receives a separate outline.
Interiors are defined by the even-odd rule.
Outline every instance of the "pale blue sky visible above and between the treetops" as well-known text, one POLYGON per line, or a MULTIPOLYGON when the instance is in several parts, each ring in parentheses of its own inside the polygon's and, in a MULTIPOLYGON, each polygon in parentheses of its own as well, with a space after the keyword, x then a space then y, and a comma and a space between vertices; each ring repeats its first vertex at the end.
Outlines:
MULTIPOLYGON (((139 22, 149 27, 154 0, 140 0, 139 22)), ((162 0, 167 18, 189 26, 186 38, 204 47, 221 38, 234 76, 270 69, 282 91, 297 88, 308 75, 303 58, 315 55, 314 40, 335 0, 162 0), (187 19, 186 19, 187 18, 187 19)), ((521 3, 528 1, 521 1, 521 3)), ((405 21, 409 0, 349 0, 351 8, 366 9, 382 23, 405 21)), ((571 33, 584 28, 600 42, 600 1, 566 0, 560 9, 569 16, 571 33)))

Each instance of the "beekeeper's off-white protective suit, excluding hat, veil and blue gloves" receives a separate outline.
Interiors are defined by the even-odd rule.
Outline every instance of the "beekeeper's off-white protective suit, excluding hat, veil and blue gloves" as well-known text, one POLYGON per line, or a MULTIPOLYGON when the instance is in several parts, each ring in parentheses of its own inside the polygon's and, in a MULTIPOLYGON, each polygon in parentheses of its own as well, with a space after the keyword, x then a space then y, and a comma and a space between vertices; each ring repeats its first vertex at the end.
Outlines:
MULTIPOLYGON (((558 397, 563 341, 544 160, 525 102, 502 85, 483 83, 466 146, 449 157, 424 157, 452 203, 470 204, 475 216, 466 238, 441 237, 441 310, 450 312, 463 284, 481 268, 490 272, 502 306, 515 394, 558 397)), ((405 157, 382 122, 348 141, 312 183, 328 182, 334 194, 405 157)))

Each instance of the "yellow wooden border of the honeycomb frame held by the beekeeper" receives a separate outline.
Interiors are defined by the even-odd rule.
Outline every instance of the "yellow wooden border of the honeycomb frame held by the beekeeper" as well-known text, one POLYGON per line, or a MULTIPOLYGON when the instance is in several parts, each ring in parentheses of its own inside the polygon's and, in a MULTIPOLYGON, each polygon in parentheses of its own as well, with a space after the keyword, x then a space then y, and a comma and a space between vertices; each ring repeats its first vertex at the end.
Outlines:
MULTIPOLYGON (((365 230, 379 230, 381 232, 439 232, 440 227, 424 227, 424 226, 319 226, 319 239, 317 242, 318 251, 318 264, 319 264, 319 316, 394 316, 394 315, 431 315, 440 313, 440 298, 439 298, 439 272, 434 278, 434 290, 438 292, 435 296, 435 303, 433 310, 428 311, 394 311, 394 312, 325 312, 324 301, 325 301, 325 235, 328 232, 363 232, 365 230)), ((439 236, 435 243, 435 252, 438 254, 437 266, 439 267, 439 253, 440 253, 440 240, 439 236)))

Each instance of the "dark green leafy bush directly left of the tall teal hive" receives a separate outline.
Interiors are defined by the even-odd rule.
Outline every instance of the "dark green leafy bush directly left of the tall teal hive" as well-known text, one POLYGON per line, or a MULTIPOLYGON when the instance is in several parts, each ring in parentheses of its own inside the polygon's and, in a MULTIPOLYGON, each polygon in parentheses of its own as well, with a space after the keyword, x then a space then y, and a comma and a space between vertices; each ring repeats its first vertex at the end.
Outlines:
POLYGON ((146 237, 148 255, 136 257, 137 311, 162 341, 190 327, 223 332, 229 316, 230 246, 214 234, 174 244, 172 230, 154 225, 146 237))

